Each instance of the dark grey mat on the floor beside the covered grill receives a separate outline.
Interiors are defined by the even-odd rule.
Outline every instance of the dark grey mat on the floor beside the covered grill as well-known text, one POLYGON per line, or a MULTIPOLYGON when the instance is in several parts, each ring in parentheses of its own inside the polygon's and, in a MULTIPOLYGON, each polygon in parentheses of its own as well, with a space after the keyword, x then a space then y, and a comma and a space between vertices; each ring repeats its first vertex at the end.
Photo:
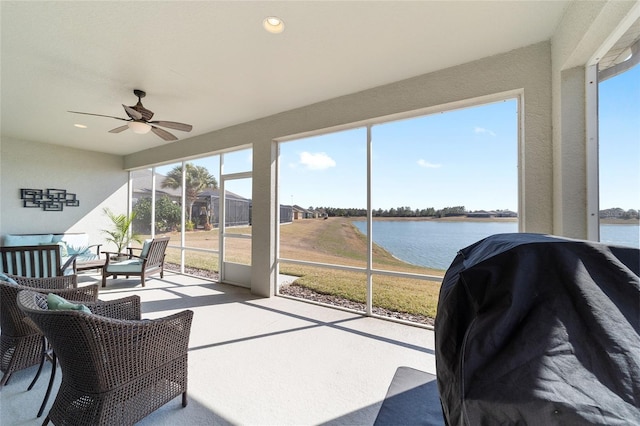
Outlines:
POLYGON ((374 425, 444 425, 436 376, 398 367, 374 425))

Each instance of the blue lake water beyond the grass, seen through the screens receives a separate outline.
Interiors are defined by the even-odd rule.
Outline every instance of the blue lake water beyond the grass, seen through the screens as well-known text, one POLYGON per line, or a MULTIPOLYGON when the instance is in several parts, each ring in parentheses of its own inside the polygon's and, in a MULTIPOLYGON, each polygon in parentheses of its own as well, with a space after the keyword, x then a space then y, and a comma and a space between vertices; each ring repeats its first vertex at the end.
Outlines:
MULTIPOLYGON (((367 223, 353 224, 366 235, 367 223)), ((398 259, 447 269, 458 250, 493 234, 518 232, 517 222, 374 221, 373 241, 398 259)), ((640 247, 639 225, 601 225, 600 239, 640 247)))

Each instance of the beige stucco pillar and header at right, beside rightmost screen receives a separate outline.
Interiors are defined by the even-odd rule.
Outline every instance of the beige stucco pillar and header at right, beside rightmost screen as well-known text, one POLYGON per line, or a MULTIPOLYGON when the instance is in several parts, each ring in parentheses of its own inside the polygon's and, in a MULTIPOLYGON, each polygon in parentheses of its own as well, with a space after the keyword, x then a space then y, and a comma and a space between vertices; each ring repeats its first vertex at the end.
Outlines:
POLYGON ((597 209, 588 206, 597 206, 589 197, 597 197, 598 188, 588 185, 586 158, 587 128, 597 128, 598 120, 587 91, 597 91, 597 84, 586 73, 638 16, 637 1, 574 2, 551 40, 554 234, 586 239, 589 227, 597 230, 597 209))

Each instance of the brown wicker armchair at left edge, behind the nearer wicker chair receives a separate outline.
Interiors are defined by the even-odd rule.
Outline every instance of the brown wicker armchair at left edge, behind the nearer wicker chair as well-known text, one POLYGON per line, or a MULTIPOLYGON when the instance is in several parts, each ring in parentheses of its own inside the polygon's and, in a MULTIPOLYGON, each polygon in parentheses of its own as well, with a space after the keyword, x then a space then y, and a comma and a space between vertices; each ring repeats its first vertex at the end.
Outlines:
POLYGON ((25 315, 16 304, 20 290, 35 290, 43 293, 55 293, 65 299, 79 302, 96 301, 98 285, 77 287, 77 275, 60 277, 32 278, 6 275, 17 284, 0 280, 0 387, 4 386, 11 374, 40 363, 40 369, 29 386, 33 387, 40 375, 44 363, 43 336, 24 321, 25 315))

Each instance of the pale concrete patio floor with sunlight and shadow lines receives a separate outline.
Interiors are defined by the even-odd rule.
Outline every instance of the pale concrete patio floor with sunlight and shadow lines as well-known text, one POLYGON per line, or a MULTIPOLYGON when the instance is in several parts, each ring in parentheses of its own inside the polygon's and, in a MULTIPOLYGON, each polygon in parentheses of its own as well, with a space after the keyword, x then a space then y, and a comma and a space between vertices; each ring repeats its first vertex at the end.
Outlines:
MULTIPOLYGON (((80 285, 99 282, 82 274, 80 285)), ((138 294, 143 318, 194 311, 189 405, 176 398, 140 425, 371 425, 400 366, 435 374, 432 331, 166 272, 141 287, 109 279, 103 300, 138 294)), ((0 392, 0 424, 39 425, 50 364, 0 392)), ((58 372, 59 373, 59 372, 58 372)), ((53 403, 58 374, 49 404, 53 403)))

